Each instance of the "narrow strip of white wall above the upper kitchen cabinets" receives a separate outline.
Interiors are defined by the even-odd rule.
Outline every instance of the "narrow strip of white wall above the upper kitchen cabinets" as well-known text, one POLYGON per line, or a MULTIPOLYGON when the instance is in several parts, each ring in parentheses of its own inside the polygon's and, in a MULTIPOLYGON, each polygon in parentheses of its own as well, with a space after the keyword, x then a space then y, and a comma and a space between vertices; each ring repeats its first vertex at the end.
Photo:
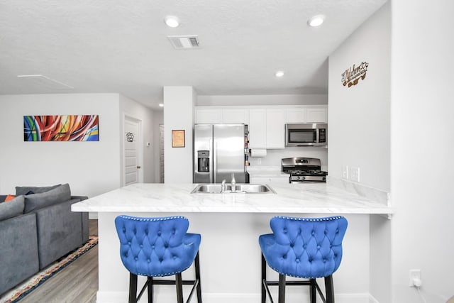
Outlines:
POLYGON ((196 106, 222 105, 315 105, 328 104, 327 94, 270 94, 198 96, 196 106))

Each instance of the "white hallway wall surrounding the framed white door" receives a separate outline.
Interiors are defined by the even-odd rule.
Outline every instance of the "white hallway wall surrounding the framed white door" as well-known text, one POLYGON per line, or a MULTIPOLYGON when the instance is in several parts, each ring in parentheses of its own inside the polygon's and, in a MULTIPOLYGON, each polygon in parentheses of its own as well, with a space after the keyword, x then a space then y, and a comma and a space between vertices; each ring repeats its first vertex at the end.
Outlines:
MULTIPOLYGON (((154 128, 154 113, 153 110, 148 107, 139 104, 131 99, 128 99, 120 95, 120 121, 123 125, 124 116, 130 116, 141 121, 143 142, 141 148, 142 162, 139 163, 141 167, 141 173, 143 174, 143 182, 154 183, 155 182, 155 170, 159 171, 159 167, 155 165, 155 133, 154 128), (150 143, 147 146, 146 143, 150 143)), ((159 127, 158 127, 159 128, 159 127)), ((123 133, 121 134, 121 140, 126 140, 123 133)), ((123 146, 121 148, 121 159, 123 160, 123 146)), ((122 162, 123 163, 123 162, 122 162)), ((123 164, 121 165, 123 176, 123 164)))

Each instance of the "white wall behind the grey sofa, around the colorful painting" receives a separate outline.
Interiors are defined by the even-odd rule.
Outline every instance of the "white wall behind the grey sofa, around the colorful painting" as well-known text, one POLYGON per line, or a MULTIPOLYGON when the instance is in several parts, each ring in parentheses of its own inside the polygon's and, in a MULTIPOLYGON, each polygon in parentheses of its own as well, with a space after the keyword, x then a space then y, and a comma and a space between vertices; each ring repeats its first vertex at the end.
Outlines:
POLYGON ((69 183, 93 197, 120 186, 118 94, 0 96, 0 192, 69 183), (99 142, 24 142, 23 116, 98 114, 99 142))

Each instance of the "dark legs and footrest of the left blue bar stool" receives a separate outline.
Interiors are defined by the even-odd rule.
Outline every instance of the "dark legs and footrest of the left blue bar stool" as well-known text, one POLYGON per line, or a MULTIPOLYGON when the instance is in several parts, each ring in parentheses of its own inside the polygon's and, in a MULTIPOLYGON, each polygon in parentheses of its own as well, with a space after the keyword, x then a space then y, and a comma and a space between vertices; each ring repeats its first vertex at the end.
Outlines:
POLYGON ((137 275, 130 272, 129 274, 129 303, 137 303, 145 289, 148 290, 148 303, 153 303, 153 285, 175 285, 177 288, 177 303, 184 303, 183 301, 183 287, 182 285, 192 285, 191 292, 187 298, 187 303, 191 300, 194 291, 197 293, 197 303, 201 302, 201 285, 200 285, 200 265, 199 265, 199 253, 197 253, 194 260, 194 268, 196 272, 195 280, 182 280, 181 272, 175 275, 175 280, 162 280, 153 279, 153 277, 147 277, 145 285, 143 285, 138 296, 137 295, 137 275))

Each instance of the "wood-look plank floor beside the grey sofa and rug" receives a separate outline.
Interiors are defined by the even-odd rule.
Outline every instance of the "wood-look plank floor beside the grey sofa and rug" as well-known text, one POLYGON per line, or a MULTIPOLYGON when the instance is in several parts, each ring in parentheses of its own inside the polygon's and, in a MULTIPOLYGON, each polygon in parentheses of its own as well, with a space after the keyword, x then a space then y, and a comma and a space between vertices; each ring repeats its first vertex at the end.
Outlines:
MULTIPOLYGON (((89 234, 98 234, 98 221, 89 220, 89 234)), ((21 303, 95 303, 98 291, 98 246, 57 272, 21 303)))

